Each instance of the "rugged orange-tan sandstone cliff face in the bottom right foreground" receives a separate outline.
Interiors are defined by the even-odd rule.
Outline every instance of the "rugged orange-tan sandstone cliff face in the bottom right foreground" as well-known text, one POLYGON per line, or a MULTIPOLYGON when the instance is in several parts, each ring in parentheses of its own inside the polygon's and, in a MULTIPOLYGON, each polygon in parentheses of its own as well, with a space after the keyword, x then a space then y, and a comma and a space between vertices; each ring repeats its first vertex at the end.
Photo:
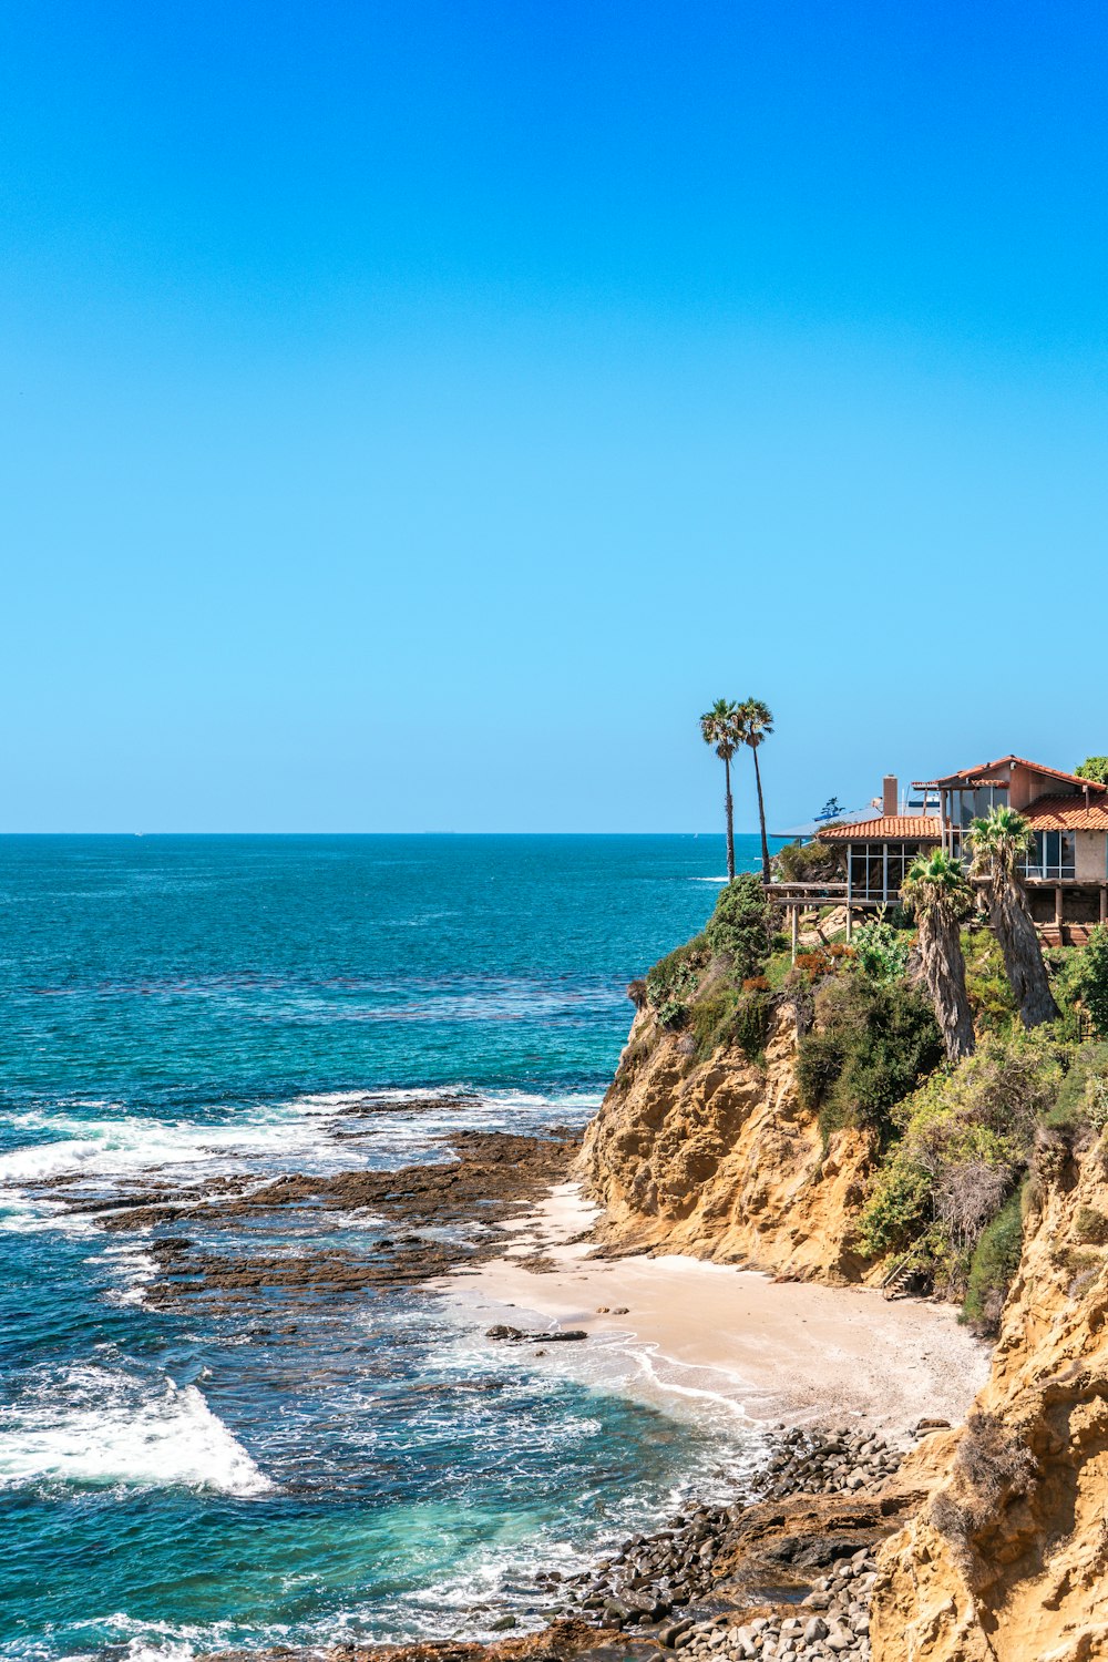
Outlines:
POLYGON ((874 1662, 1108 1657, 1108 1160, 1045 1133, 1035 1165, 992 1376, 882 1554, 874 1662))

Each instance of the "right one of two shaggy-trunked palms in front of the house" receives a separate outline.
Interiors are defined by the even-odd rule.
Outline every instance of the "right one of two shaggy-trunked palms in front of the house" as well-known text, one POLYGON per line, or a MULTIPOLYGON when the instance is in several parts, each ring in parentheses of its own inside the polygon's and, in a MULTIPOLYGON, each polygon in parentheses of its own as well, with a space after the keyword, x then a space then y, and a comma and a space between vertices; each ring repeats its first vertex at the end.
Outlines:
POLYGON ((1058 1006, 1018 878, 1020 861, 1030 846, 1032 828, 1015 808, 993 808, 987 819, 975 819, 970 828, 970 876, 985 883, 988 922, 1000 942, 1023 1025, 1038 1027, 1057 1017, 1058 1006))

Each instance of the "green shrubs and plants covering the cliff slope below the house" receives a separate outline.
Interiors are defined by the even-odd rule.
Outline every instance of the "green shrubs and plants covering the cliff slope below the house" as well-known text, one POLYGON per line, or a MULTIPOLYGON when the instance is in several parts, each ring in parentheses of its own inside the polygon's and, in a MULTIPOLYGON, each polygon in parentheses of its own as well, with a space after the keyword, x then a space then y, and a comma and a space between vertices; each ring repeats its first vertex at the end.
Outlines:
MULTIPOLYGON (((997 834, 1018 841, 1020 828, 997 834)), ((997 859, 1003 886, 1010 848, 997 859)), ((743 873, 704 931, 633 996, 655 1030, 673 1035, 684 1072, 728 1050, 739 1067, 761 1065, 781 1020, 794 1022, 796 1099, 817 1120, 824 1157, 839 1132, 869 1138, 851 1225, 859 1268, 907 1263, 920 1285, 963 1300, 978 1331, 995 1331, 1033 1200, 1037 1140, 1108 1124, 1108 1044, 1080 1042, 1090 1025, 1108 1037, 1108 929, 1047 957, 1035 941, 1063 1014, 1028 1025, 1028 979, 1020 999, 962 873, 942 856, 920 861, 907 897, 915 931, 904 914, 877 917, 849 946, 831 939, 792 964, 761 878, 743 873)))

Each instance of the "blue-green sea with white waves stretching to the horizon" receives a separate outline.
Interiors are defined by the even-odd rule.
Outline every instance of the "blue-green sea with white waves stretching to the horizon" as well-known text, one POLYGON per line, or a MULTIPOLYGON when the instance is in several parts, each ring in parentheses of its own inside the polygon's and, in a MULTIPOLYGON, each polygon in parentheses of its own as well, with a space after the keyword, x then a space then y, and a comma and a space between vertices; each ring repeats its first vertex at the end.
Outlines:
MULTIPOLYGON (((289 1333, 150 1308, 148 1242, 37 1182, 203 1195, 583 1125, 628 979, 721 864, 708 836, 0 838, 0 1654, 477 1635, 719 1466, 724 1428, 508 1365, 424 1291, 289 1333)), ((336 1215, 347 1251, 380 1233, 336 1215)))

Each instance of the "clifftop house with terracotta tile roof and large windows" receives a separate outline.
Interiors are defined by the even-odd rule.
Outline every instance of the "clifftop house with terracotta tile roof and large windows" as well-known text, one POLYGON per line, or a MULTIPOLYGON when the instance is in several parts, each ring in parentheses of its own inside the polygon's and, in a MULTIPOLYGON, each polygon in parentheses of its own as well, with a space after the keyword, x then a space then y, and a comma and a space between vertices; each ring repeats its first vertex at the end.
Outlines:
POLYGON ((1083 941, 1093 924, 1108 919, 1106 786, 1023 756, 1002 756, 939 779, 917 779, 912 789, 920 794, 900 801, 897 779, 887 774, 880 814, 817 833, 821 843, 844 849, 847 914, 895 906, 920 853, 942 848, 968 859, 972 821, 1007 803, 1035 833, 1022 878, 1043 936, 1083 941))

